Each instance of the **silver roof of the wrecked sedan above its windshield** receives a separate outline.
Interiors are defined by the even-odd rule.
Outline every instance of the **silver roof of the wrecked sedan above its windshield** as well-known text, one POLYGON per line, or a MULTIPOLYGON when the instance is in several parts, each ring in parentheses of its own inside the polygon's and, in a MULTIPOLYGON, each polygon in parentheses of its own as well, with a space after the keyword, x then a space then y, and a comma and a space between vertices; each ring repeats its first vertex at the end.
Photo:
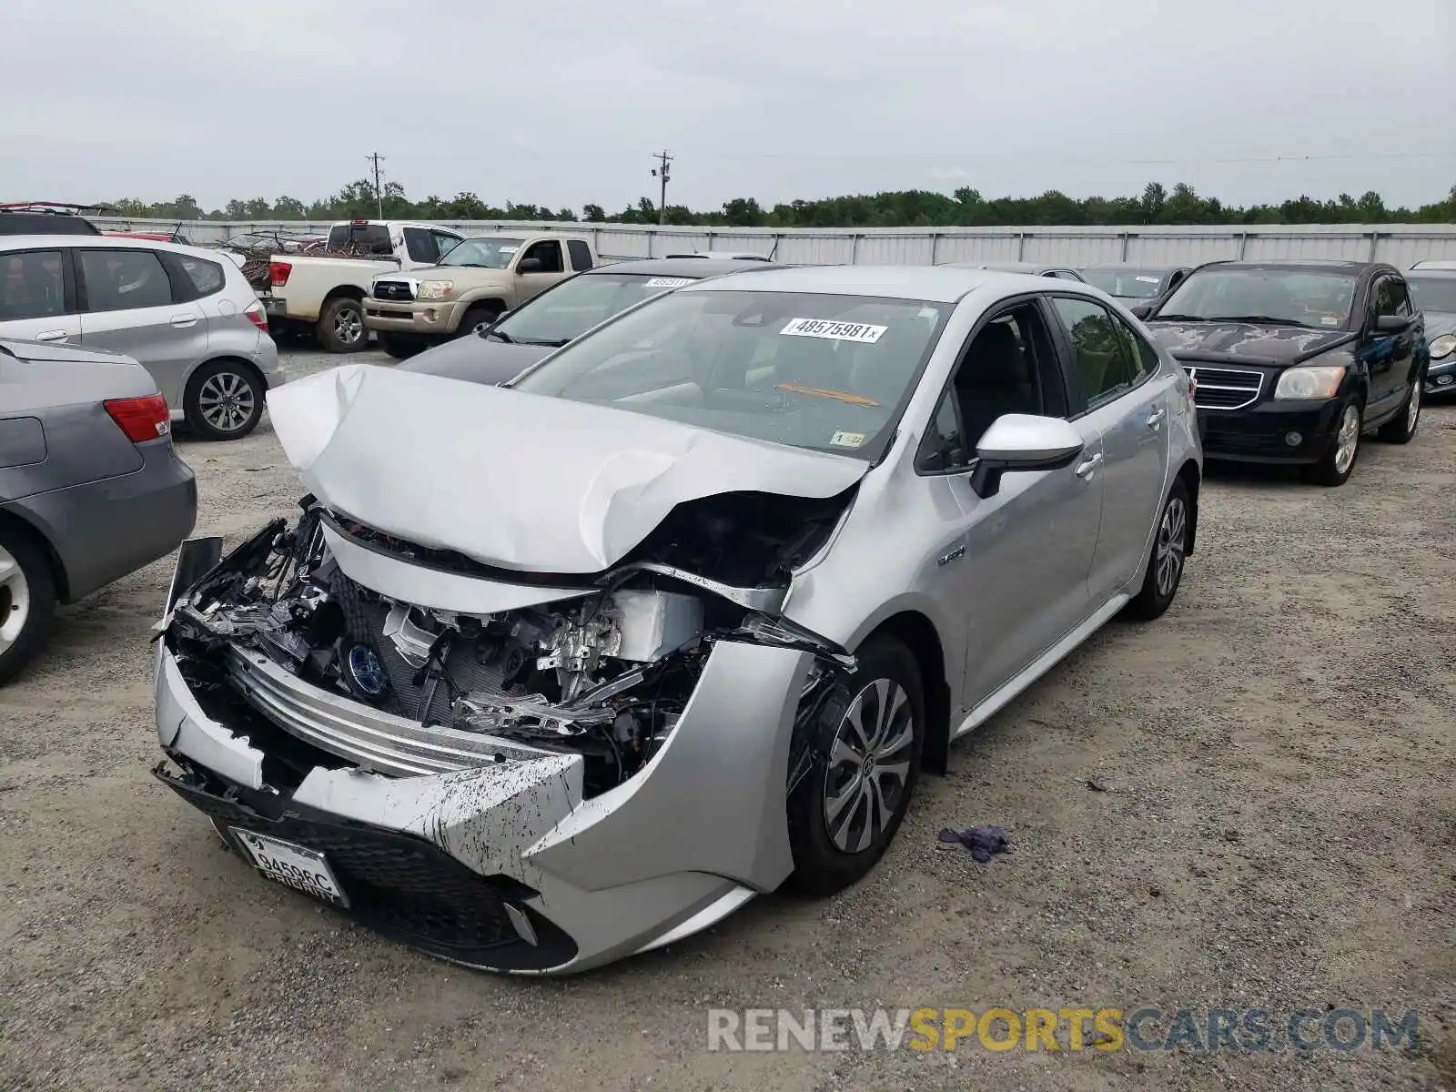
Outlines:
MULTIPOLYGON (((1057 288, 1075 285, 1060 281, 1057 288)), ((1008 291, 1048 291, 1044 277, 999 272, 996 269, 958 269, 951 265, 785 265, 753 277, 753 291, 817 293, 821 296, 875 296, 888 300, 926 300, 960 303, 977 288, 1008 291)), ((689 284, 678 291, 734 291, 740 284, 715 278, 689 284)))

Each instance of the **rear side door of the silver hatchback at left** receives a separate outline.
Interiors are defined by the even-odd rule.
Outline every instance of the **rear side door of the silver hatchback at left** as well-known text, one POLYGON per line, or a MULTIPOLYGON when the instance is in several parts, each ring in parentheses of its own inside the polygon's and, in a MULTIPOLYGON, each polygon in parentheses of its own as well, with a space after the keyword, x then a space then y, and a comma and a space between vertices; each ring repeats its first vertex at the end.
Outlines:
POLYGON ((170 303, 170 281, 150 250, 79 249, 82 344, 135 357, 167 405, 182 405, 191 368, 207 355, 207 322, 198 303, 170 303), (154 269, 151 266, 154 264, 154 269), (151 278, 160 275, 157 284, 151 278))

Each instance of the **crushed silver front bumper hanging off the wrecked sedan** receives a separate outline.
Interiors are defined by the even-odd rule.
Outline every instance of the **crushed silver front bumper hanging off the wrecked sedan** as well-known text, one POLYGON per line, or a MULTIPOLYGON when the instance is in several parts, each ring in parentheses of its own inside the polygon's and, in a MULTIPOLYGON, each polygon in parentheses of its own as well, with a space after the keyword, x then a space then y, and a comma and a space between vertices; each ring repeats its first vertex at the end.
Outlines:
POLYGON ((807 652, 716 642, 646 767, 591 798, 579 754, 405 721, 255 657, 227 651, 248 706, 230 715, 159 642, 157 738, 181 769, 159 776, 220 830, 323 853, 347 913, 424 951, 581 971, 705 929, 792 871, 785 776, 807 652), (301 780, 284 760, 297 769, 300 745, 316 759, 301 780))

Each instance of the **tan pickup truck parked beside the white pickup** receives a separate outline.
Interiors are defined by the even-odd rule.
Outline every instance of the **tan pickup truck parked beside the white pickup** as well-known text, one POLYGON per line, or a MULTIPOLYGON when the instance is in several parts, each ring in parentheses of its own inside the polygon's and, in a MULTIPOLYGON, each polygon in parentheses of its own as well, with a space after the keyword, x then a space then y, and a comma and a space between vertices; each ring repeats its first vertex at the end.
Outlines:
POLYGON ((364 325, 395 358, 479 331, 582 269, 597 265, 587 239, 489 234, 466 239, 438 265, 376 277, 364 325))

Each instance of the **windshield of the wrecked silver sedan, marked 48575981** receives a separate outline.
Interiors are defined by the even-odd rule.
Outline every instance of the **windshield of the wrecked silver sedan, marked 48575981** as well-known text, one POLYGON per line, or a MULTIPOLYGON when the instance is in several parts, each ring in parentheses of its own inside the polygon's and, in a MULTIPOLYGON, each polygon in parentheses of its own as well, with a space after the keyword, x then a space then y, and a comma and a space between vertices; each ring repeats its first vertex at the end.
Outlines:
POLYGON ((513 386, 874 462, 951 310, 865 296, 668 293, 513 386))

